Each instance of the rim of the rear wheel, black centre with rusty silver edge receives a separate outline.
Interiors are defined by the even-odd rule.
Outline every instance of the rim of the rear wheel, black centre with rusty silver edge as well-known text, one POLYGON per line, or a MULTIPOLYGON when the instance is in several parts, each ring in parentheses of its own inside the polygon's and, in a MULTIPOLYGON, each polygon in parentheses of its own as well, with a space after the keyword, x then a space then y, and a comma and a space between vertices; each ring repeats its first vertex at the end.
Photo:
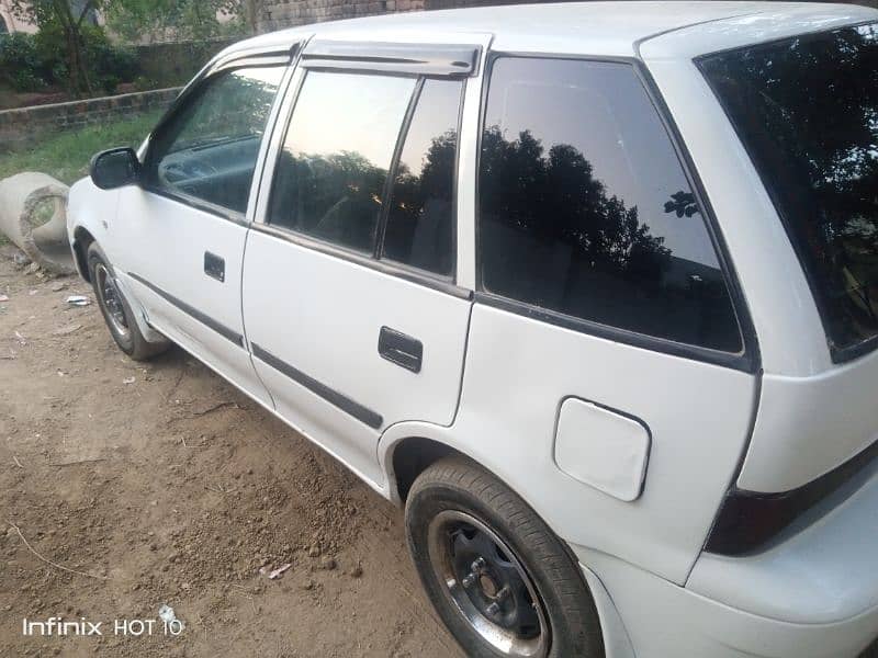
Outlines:
POLYGON ((437 514, 427 532, 434 572, 466 624, 504 656, 544 657, 549 617, 508 544, 475 517, 458 510, 437 514))

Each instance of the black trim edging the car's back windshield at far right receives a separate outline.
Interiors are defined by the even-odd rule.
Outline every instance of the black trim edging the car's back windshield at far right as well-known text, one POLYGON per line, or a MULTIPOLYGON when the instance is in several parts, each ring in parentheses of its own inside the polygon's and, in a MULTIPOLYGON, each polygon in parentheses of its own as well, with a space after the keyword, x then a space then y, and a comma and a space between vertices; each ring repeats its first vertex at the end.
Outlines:
POLYGON ((725 115, 725 118, 729 121, 729 124, 734 129, 734 134, 735 134, 735 137, 738 138, 739 144, 744 149, 744 152, 746 152, 747 158, 750 159, 750 163, 753 167, 754 171, 756 172, 756 175, 758 177, 759 182, 762 183, 763 188, 765 189, 766 194, 768 194, 768 197, 772 200, 772 206, 774 207, 775 213, 777 214, 778 218, 780 219, 780 224, 784 226, 784 232, 786 234, 787 239, 789 240, 790 245, 792 246, 792 250, 796 253, 796 260, 798 261, 799 268, 802 271, 802 274, 804 275, 806 282, 808 283, 808 290, 811 293, 811 299, 813 300, 814 306, 817 307, 818 315, 820 315, 820 321, 821 321, 822 329, 823 329, 823 336, 824 336, 824 338, 826 340, 826 350, 829 351, 829 354, 830 354, 830 361, 832 361, 832 363, 834 363, 834 364, 847 363, 848 361, 854 361, 855 359, 858 359, 859 356, 864 356, 866 354, 869 354, 870 352, 874 352, 876 349, 878 349, 878 334, 871 336, 871 337, 869 337, 869 338, 867 338, 865 340, 862 340, 862 341, 856 342, 854 344, 847 345, 845 348, 837 347, 834 343, 834 341, 830 338, 829 330, 828 330, 830 314, 829 314, 829 309, 826 308, 826 303, 825 303, 825 300, 823 298, 824 293, 820 291, 819 284, 818 284, 817 280, 814 277, 814 273, 812 272, 811 268, 808 265, 808 260, 809 260, 810 257, 808 256, 806 248, 801 245, 801 240, 798 238, 798 234, 796 232, 796 230, 795 230, 795 228, 792 226, 792 223, 790 222, 789 217, 787 217, 786 213, 784 213, 781 211, 781 204, 779 202, 779 196, 777 194, 777 190, 774 189, 774 185, 768 184, 768 182, 763 177, 763 173, 762 173, 762 170, 761 170, 762 168, 759 166, 757 166, 757 163, 756 163, 757 162, 756 154, 753 152, 752 149, 741 138, 741 131, 739 129, 739 123, 734 118, 732 118, 732 114, 730 112, 728 103, 722 98, 722 95, 719 93, 719 90, 716 88, 716 86, 710 80, 710 78, 706 75, 702 65, 703 65, 703 61, 706 59, 709 59, 710 57, 714 57, 717 55, 725 55, 728 53, 734 53, 736 50, 745 50, 745 49, 748 49, 748 48, 770 47, 773 45, 777 45, 777 44, 781 44, 784 42, 792 41, 795 38, 814 37, 814 36, 818 36, 820 34, 829 34, 829 33, 832 33, 832 32, 837 32, 840 30, 851 30, 851 29, 862 27, 864 25, 874 25, 876 23, 878 23, 878 20, 876 20, 875 18, 871 18, 871 19, 868 19, 868 20, 865 20, 865 21, 858 21, 856 23, 834 25, 834 26, 829 27, 829 29, 821 27, 821 29, 813 30, 813 31, 810 31, 810 32, 802 32, 802 33, 798 33, 798 34, 780 36, 780 37, 770 38, 770 39, 767 39, 767 41, 764 41, 764 42, 756 42, 756 43, 746 44, 746 45, 743 45, 743 46, 738 45, 738 46, 732 46, 732 47, 729 47, 729 48, 722 48, 720 50, 714 50, 714 52, 711 52, 711 53, 705 53, 702 55, 699 55, 698 57, 693 58, 693 64, 698 69, 698 72, 701 73, 705 82, 710 88, 710 91, 713 93, 713 97, 716 98, 717 103, 719 103, 720 107, 722 109, 722 112, 725 115))

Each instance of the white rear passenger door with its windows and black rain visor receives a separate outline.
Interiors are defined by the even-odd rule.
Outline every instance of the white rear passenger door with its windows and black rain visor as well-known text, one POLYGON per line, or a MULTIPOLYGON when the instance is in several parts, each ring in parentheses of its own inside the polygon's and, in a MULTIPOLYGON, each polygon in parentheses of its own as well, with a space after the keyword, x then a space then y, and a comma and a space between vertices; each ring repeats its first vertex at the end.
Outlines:
POLYGON ((457 409, 471 293, 455 284, 455 162, 476 58, 311 42, 247 241, 259 376, 290 423, 376 486, 385 428, 447 426, 457 409))

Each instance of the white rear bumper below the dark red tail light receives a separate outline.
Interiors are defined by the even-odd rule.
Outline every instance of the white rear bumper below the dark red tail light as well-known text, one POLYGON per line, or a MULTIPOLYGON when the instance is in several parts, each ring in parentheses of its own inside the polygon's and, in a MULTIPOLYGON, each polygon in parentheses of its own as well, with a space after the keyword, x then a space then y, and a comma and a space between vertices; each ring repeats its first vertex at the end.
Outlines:
POLYGON ((878 640, 878 464, 842 502, 770 551, 702 554, 686 587, 574 551, 586 577, 590 570, 606 588, 601 615, 618 613, 638 658, 856 658, 878 640))

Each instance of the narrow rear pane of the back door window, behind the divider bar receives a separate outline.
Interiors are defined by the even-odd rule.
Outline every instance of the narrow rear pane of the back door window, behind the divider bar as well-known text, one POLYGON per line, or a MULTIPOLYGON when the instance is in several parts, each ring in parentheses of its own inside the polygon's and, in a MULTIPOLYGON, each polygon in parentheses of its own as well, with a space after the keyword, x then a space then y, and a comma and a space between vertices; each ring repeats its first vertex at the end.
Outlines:
POLYGON ((451 274, 459 81, 426 80, 408 127, 384 236, 389 259, 451 274))

